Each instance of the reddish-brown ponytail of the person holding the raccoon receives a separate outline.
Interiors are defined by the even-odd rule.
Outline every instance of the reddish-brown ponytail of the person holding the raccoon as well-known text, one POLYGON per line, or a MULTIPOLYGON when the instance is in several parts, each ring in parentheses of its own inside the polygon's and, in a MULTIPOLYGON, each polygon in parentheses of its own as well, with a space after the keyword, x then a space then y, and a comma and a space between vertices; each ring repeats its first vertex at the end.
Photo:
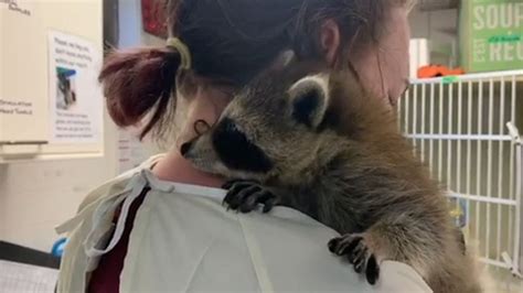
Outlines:
MULTIPOLYGON (((117 51, 106 58, 98 77, 115 123, 129 127, 139 123, 151 111, 140 139, 171 111, 171 94, 181 55, 172 47, 117 51)), ((175 104, 173 104, 175 107, 175 104)))

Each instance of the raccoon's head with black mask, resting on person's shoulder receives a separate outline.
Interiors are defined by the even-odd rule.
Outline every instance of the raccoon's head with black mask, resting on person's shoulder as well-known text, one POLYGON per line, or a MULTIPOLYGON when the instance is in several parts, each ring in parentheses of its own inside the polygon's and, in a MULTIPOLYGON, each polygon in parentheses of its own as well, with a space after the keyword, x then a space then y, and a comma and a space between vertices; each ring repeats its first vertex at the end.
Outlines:
POLYGON ((328 101, 328 74, 267 73, 181 153, 195 167, 230 178, 299 175, 317 156, 328 101))

